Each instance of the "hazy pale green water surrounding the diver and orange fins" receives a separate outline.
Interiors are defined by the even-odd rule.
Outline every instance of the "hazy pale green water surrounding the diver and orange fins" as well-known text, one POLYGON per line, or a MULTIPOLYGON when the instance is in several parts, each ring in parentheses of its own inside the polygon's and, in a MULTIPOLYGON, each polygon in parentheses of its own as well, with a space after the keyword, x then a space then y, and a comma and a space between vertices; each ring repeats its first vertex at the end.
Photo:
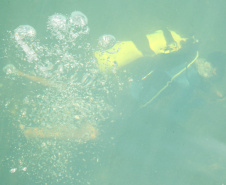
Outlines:
POLYGON ((13 64, 57 84, 46 87, 1 70, 0 184, 226 184, 225 75, 189 91, 168 89, 140 108, 141 102, 128 98, 125 78, 99 74, 92 58, 103 34, 140 43, 144 35, 168 28, 198 39, 200 57, 222 62, 216 74, 224 73, 224 0, 2 0, 0 9, 0 68, 13 64), (60 13, 68 20, 73 11, 88 18, 89 32, 72 43, 54 40, 54 29, 47 30, 49 16, 60 13), (12 35, 20 25, 35 29, 31 43, 40 60, 32 61, 15 44, 12 35), (57 47, 64 52, 57 53, 57 47), (61 73, 55 63, 53 71, 59 67, 59 73, 41 70, 43 61, 51 67, 48 60, 72 67, 61 73), (92 125, 99 134, 87 142, 27 139, 19 128, 57 125, 69 127, 70 135, 68 123, 81 127, 80 133, 84 123, 92 125))

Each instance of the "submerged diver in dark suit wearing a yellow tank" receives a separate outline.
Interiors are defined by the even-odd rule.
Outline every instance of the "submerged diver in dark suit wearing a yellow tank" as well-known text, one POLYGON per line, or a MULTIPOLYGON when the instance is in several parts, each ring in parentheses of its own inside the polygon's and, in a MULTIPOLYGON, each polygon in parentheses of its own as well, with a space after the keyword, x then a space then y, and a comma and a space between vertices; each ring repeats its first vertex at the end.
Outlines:
POLYGON ((216 82, 213 83, 224 74, 221 62, 217 65, 209 57, 200 58, 199 41, 194 37, 183 38, 163 29, 147 34, 141 39, 143 45, 137 40, 112 44, 114 39, 106 35, 102 39, 108 40, 111 47, 96 51, 95 57, 101 71, 117 71, 129 84, 120 100, 120 107, 127 106, 126 111, 125 100, 129 98, 128 104, 135 104, 135 112, 137 107, 160 106, 162 112, 178 121, 185 119, 193 108, 206 103, 198 95, 200 92, 213 91, 216 97, 223 98, 223 93, 214 85, 216 82))

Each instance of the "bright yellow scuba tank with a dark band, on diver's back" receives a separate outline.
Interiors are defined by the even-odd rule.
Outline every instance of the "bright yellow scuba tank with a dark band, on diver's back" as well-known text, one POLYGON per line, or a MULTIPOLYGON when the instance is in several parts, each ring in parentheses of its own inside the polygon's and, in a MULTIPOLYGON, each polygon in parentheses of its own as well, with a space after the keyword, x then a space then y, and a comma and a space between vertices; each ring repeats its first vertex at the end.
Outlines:
MULTIPOLYGON (((153 34, 147 34, 146 39, 149 42, 150 53, 153 53, 152 56, 178 51, 181 49, 181 42, 187 40, 176 32, 168 30, 157 30, 153 34)), ((117 42, 110 49, 96 51, 94 55, 101 71, 119 69, 144 56, 132 41, 117 42)))

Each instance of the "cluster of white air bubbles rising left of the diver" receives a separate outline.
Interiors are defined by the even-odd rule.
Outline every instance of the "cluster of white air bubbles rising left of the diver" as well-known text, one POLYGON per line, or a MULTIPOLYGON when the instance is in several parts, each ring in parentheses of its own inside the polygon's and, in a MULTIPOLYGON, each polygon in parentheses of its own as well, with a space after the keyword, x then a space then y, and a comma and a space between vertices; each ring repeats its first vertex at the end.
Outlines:
MULTIPOLYGON (((37 39, 32 26, 21 25, 14 30, 12 40, 16 48, 11 50, 16 54, 8 57, 9 64, 3 70, 9 79, 19 79, 25 84, 32 82, 39 87, 23 94, 17 105, 13 122, 18 130, 19 125, 51 130, 56 127, 82 128, 83 124, 100 129, 100 123, 110 117, 113 106, 108 99, 115 86, 98 69, 93 57, 94 49, 87 41, 87 24, 87 17, 79 11, 70 16, 54 14, 47 22, 50 37, 45 44, 37 39)), ((98 42, 103 49, 112 47, 114 43, 115 38, 111 35, 100 37, 98 42)), ((5 103, 6 109, 10 109, 10 103, 10 100, 5 103)), ((18 159, 13 161, 10 173, 24 172, 42 182, 46 177, 54 177, 57 181, 65 177, 74 180, 76 175, 70 175, 73 171, 70 162, 74 156, 84 153, 79 151, 81 145, 78 142, 54 138, 26 140, 23 131, 18 132, 20 139, 17 138, 16 142, 20 144, 14 152, 18 159)), ((92 142, 94 145, 95 141, 92 142)), ((88 142, 80 143, 87 145, 88 142)), ((95 158, 94 152, 90 153, 92 156, 86 153, 78 158, 83 162, 87 161, 84 155, 95 158)), ((78 166, 76 169, 79 179, 82 170, 78 166)))

